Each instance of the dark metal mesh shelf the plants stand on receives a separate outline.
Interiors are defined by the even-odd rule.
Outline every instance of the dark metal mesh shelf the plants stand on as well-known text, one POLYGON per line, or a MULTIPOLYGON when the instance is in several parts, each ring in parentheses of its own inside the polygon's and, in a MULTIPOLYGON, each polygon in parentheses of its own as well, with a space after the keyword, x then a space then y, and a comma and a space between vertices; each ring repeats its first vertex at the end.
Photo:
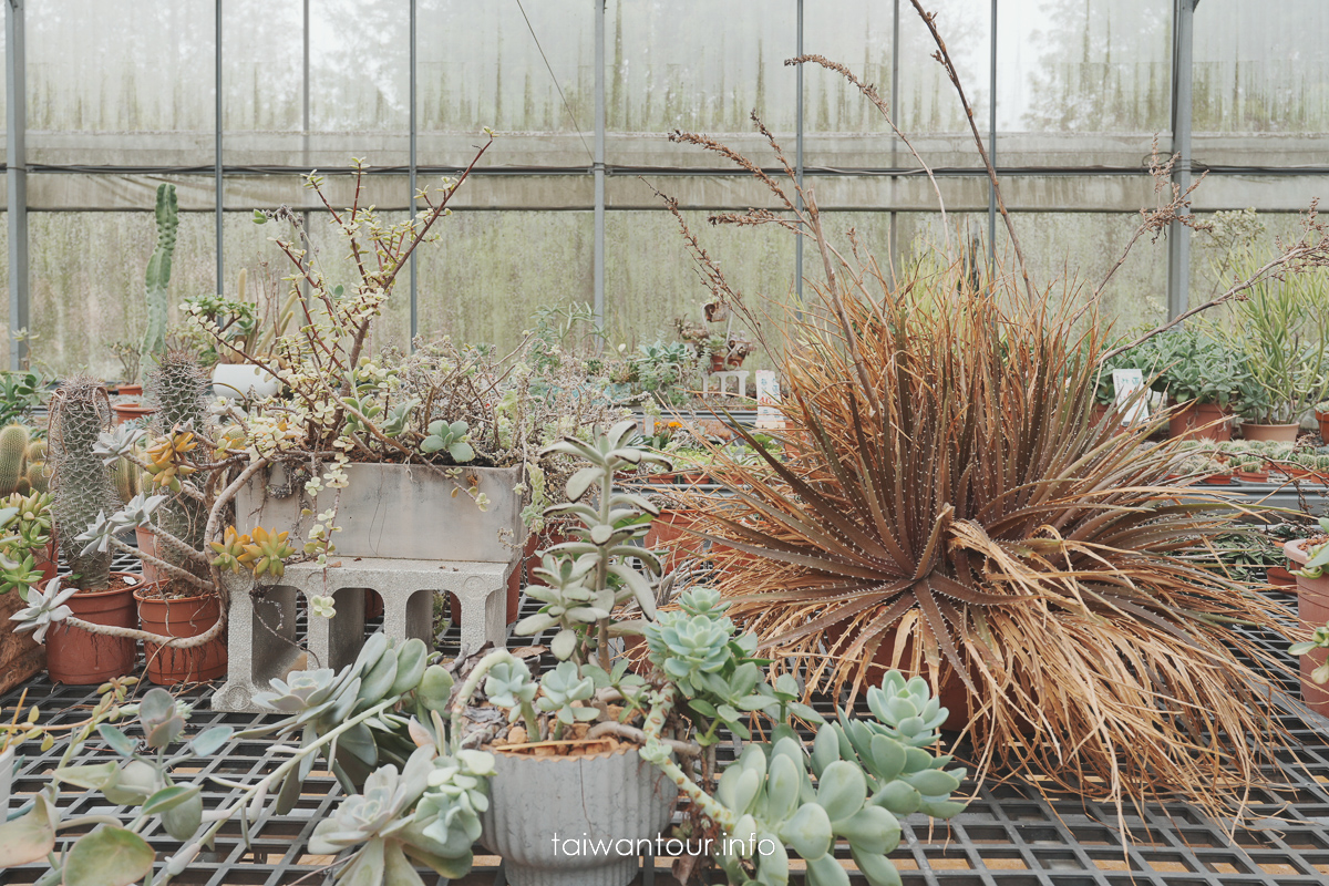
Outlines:
MULTIPOLYGON (((1288 595, 1273 595, 1285 603, 1288 595)), ((534 611, 533 600, 522 600, 524 614, 534 611)), ((368 630, 375 630, 371 623, 368 630)), ((1249 639, 1282 655, 1277 638, 1249 639)), ((513 646, 536 644, 546 638, 512 638, 513 646)), ((451 626, 440 638, 444 655, 457 651, 459 632, 451 626)), ((1289 667, 1292 664, 1288 659, 1289 667)), ((1289 675, 1289 680, 1294 680, 1289 675)), ((1294 688, 1294 687, 1293 687, 1294 688)), ((191 729, 226 724, 237 729, 263 720, 259 715, 218 713, 207 709, 210 688, 181 692, 198 701, 191 729)), ((90 687, 52 685, 45 677, 28 684, 29 701, 41 705, 53 723, 73 721, 94 703, 90 687)), ((19 692, 0 701, 12 709, 19 692)), ((827 699, 817 707, 832 711, 827 699)), ((900 849, 893 861, 906 886, 1321 886, 1329 882, 1329 721, 1304 723, 1292 712, 1280 715, 1281 725, 1293 736, 1296 751, 1280 760, 1277 780, 1288 785, 1282 796, 1256 792, 1252 812, 1256 829, 1239 830, 1229 838, 1229 822, 1215 821, 1185 804, 1155 804, 1144 816, 1127 814, 1132 840, 1123 846, 1115 829, 1115 809, 1083 802, 1078 797, 1043 800, 1027 786, 989 782, 975 792, 971 782, 962 792, 973 794, 969 809, 950 822, 930 822, 910 816, 904 824, 900 849), (1289 805, 1289 801, 1290 805, 1289 805)), ((96 741, 89 751, 98 749, 96 741)), ((274 765, 268 741, 243 741, 222 756, 207 760, 205 774, 222 774, 251 782, 274 765)), ((25 751, 28 751, 25 748, 25 751)), ((961 758, 968 748, 954 749, 961 758)), ((109 753, 101 748, 102 753, 109 753)), ((722 745, 720 761, 732 760, 732 747, 722 745)), ((58 745, 47 753, 28 751, 15 781, 21 800, 45 784, 43 773, 56 764, 58 745)), ((229 790, 211 788, 206 802, 214 806, 229 790)), ((319 869, 332 859, 304 850, 314 825, 330 814, 342 797, 335 778, 316 770, 306 793, 290 814, 267 821, 253 838, 251 847, 241 840, 239 826, 230 825, 218 837, 215 849, 199 855, 182 886, 288 886, 296 882, 320 883, 319 869), (302 879, 303 878, 303 879, 302 879)), ((532 798, 540 802, 538 797, 532 798)), ((66 792, 64 801, 74 813, 125 816, 126 810, 98 805, 90 793, 66 792)), ((149 842, 161 850, 175 843, 165 834, 149 832, 149 842)), ((848 854, 841 847, 848 862, 848 854)), ((655 859, 657 882, 671 882, 667 858, 655 859)), ((490 883, 498 859, 477 847, 476 869, 464 883, 490 883)), ((40 867, 0 873, 0 883, 32 883, 40 867)), ((432 877, 432 874, 431 874, 432 877)), ((855 882, 864 882, 856 873, 855 882)), ((797 879, 797 878, 795 878, 797 879)), ((427 877, 425 882, 433 882, 427 877)))

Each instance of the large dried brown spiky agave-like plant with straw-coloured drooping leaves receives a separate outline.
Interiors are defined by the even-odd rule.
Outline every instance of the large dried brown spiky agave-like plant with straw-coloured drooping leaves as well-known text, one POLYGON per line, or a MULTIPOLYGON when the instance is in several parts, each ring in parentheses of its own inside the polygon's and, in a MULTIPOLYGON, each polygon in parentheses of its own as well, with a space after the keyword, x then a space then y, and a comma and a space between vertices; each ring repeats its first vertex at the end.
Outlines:
POLYGON ((1124 804, 1160 798, 1239 818, 1286 735, 1271 703, 1282 664, 1233 626, 1281 632, 1290 612, 1197 555, 1232 511, 1164 485, 1177 456, 1146 445, 1156 424, 1091 421, 1096 310, 1031 299, 1022 262, 1018 282, 978 286, 958 262, 884 275, 852 232, 852 248, 832 243, 754 121, 803 199, 739 158, 781 210, 711 222, 775 223, 817 247, 819 304, 791 312, 781 341, 664 198, 714 296, 784 355, 787 460, 754 470, 716 450, 727 494, 688 502, 722 551, 731 612, 809 691, 853 695, 901 665, 952 707, 968 699, 981 777, 1106 801, 1123 824, 1124 804))

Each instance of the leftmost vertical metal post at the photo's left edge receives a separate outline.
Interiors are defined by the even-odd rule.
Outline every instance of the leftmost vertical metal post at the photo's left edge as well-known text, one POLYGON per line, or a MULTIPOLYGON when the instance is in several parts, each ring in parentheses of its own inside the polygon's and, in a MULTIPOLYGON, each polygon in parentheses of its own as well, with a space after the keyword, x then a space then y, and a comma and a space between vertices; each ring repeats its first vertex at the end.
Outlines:
MULTIPOLYGON (((5 187, 9 224, 9 335, 28 328, 28 102, 23 0, 5 4, 5 187)), ((28 363, 28 343, 11 339, 9 368, 28 363)))

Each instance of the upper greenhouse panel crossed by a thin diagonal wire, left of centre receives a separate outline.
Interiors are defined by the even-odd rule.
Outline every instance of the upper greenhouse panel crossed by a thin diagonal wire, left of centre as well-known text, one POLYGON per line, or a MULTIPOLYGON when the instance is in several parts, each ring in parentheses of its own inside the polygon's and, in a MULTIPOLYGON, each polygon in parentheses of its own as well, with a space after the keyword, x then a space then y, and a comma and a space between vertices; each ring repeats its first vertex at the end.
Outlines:
POLYGON ((521 8, 419 0, 420 165, 469 163, 489 126, 501 138, 485 166, 587 167, 595 130, 593 13, 585 0, 521 8))

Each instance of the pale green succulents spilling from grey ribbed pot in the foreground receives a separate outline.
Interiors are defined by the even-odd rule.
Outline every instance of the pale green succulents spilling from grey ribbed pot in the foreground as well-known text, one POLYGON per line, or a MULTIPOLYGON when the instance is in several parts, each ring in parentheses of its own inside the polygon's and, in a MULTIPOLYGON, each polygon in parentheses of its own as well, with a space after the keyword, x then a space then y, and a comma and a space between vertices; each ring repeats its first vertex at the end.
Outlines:
POLYGON ((949 794, 965 773, 936 751, 946 709, 922 680, 892 672, 868 691, 869 716, 841 711, 827 723, 800 704, 791 675, 771 680, 756 638, 739 634, 714 591, 692 588, 655 615, 655 588, 629 563, 658 571, 654 554, 631 543, 654 509, 613 487, 618 468, 651 458, 623 445, 627 434, 619 425, 589 444, 561 444, 590 462, 569 482, 573 501, 556 511, 579 529, 545 551, 546 584, 533 588, 544 607, 521 628, 557 628, 557 667, 537 679, 500 650, 445 668, 423 642, 393 646, 377 634, 342 671, 274 680, 260 703, 283 716, 238 735, 230 727, 186 735, 187 704, 162 689, 126 704, 124 684, 112 681, 69 736, 51 784, 0 825, 0 867, 47 861, 52 882, 72 886, 166 883, 227 822, 247 834, 266 810, 294 808, 324 758, 348 796, 314 829, 308 851, 338 854, 332 879, 343 885, 420 886, 417 866, 462 877, 478 840, 504 854, 517 886, 622 886, 679 793, 690 800, 688 833, 732 883, 788 882, 791 851, 813 886, 843 883, 837 841, 869 883, 898 882, 888 858, 898 816, 964 809, 949 794), (619 620, 631 608, 645 623, 619 620), (615 660, 615 638, 633 631, 646 636, 645 673, 615 660), (130 720, 134 729, 117 725, 130 720), (811 748, 796 720, 816 727, 811 748), (750 728, 758 721, 760 741, 750 728), (78 756, 93 727, 117 758, 78 756), (295 747, 253 784, 187 774, 197 757, 271 733, 295 747), (715 749, 727 733, 747 744, 720 773, 715 749), (217 809, 205 808, 207 781, 234 792, 217 809), (541 804, 529 802, 533 785, 541 804), (66 818, 64 786, 101 792, 138 814, 128 825, 66 818), (179 849, 158 859, 150 829, 179 849), (78 836, 61 843, 61 832, 78 836), (599 847, 560 855, 550 833, 599 847))

